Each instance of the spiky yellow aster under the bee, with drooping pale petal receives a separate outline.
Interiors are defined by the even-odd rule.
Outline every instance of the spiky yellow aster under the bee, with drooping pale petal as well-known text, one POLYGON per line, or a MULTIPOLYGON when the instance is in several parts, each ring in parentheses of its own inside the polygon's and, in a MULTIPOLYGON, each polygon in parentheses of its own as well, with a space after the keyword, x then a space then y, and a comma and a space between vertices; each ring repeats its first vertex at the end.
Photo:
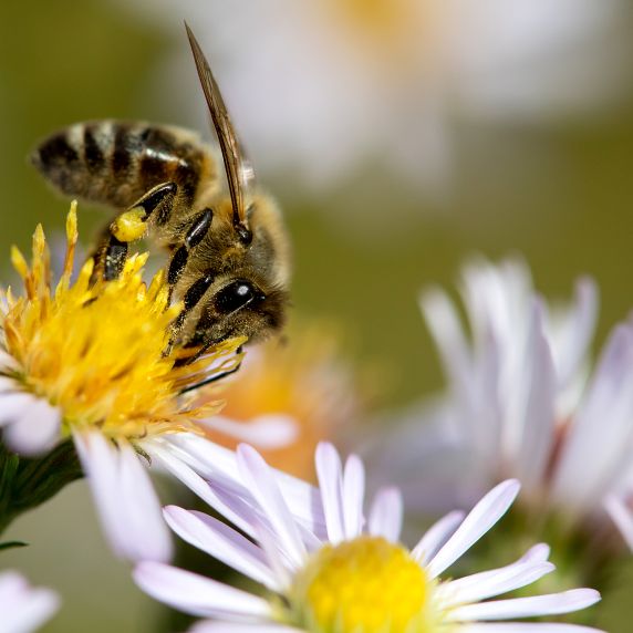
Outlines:
MULTIPOLYGON (((12 251, 24 293, 9 289, 0 295, 2 442, 33 457, 72 439, 115 552, 166 560, 170 539, 143 463, 152 459, 158 439, 163 452, 178 435, 208 442, 204 425, 221 403, 212 385, 193 387, 235 369, 243 340, 178 363, 193 351, 174 346, 164 353, 181 307, 169 305, 163 272, 147 286, 142 278, 147 256, 136 255, 115 281, 92 283, 89 260, 72 282, 74 205, 66 234, 64 269, 54 287, 41 227, 30 264, 12 251)), ((19 466, 11 471, 19 474, 19 466)))

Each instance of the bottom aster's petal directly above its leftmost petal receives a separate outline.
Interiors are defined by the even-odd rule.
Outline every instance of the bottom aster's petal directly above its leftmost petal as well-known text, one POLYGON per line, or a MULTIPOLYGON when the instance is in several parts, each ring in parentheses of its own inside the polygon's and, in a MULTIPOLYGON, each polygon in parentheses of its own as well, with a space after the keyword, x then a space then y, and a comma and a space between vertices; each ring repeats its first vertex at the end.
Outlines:
POLYGON ((226 523, 203 512, 188 511, 176 506, 167 506, 164 515, 167 525, 189 544, 272 591, 280 589, 261 549, 226 523))

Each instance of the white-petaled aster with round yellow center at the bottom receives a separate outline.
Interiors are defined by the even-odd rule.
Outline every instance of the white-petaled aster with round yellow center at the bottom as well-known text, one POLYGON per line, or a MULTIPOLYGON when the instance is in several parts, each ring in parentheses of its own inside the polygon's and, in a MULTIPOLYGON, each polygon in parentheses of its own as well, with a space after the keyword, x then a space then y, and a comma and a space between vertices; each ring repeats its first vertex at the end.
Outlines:
POLYGON ((487 600, 553 571, 546 544, 501 569, 442 578, 508 510, 519 490, 516 480, 498 485, 467 516, 450 512, 408 550, 398 541, 396 489, 378 492, 365 518, 365 476, 356 456, 343 467, 333 446, 321 444, 316 473, 320 489, 307 498, 304 482, 276 474, 250 446, 238 447, 210 488, 216 509, 246 537, 203 512, 165 509, 183 539, 261 584, 263 596, 153 561, 136 567, 137 584, 157 600, 209 619, 195 626, 197 633, 590 631, 495 623, 568 613, 599 600, 591 589, 487 600))

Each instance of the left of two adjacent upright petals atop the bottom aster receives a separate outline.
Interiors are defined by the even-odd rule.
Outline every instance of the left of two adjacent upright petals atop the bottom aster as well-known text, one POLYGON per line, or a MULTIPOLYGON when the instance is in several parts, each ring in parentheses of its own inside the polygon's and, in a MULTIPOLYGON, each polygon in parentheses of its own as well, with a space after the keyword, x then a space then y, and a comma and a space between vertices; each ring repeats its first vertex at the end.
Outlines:
POLYGON ((323 500, 323 512, 330 542, 336 544, 345 538, 343 522, 343 468, 336 449, 326 442, 316 447, 316 477, 323 500))

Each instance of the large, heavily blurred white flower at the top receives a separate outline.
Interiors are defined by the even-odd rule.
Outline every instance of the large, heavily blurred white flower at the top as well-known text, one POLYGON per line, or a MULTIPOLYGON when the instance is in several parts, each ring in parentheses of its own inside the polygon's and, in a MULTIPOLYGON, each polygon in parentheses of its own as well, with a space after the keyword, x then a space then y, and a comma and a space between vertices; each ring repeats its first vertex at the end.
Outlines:
MULTIPOLYGON (((440 193, 457 120, 587 114, 630 83, 625 0, 124 6, 180 41, 183 18, 191 23, 258 170, 287 185, 298 176, 302 189, 377 168, 440 193)), ((191 61, 179 49, 158 70, 157 95, 200 112, 191 61)))

